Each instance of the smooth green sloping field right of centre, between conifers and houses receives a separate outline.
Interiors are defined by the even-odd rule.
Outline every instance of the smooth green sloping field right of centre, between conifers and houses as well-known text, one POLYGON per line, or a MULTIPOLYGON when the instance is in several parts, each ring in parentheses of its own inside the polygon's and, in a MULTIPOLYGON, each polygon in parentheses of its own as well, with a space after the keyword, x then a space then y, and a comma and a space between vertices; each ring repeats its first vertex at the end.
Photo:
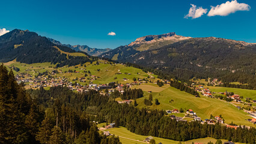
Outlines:
MULTIPOLYGON (((151 85, 150 85, 151 86, 151 85)), ((147 85, 142 86, 141 88, 148 89, 147 85)), ((243 112, 243 110, 238 110, 232 104, 225 103, 224 101, 220 101, 216 98, 207 98, 201 96, 200 98, 195 97, 194 95, 188 94, 186 92, 180 91, 178 89, 172 88, 168 85, 163 86, 165 88, 163 91, 159 91, 157 85, 155 85, 153 94, 153 105, 145 106, 144 98, 148 98, 149 93, 144 92, 144 97, 138 98, 136 101, 138 103, 139 108, 148 107, 150 109, 159 109, 159 110, 172 110, 172 109, 192 109, 197 113, 201 119, 210 118, 210 115, 222 115, 225 119, 225 123, 230 124, 232 121, 237 125, 248 125, 254 126, 251 122, 246 121, 246 119, 251 118, 247 113, 243 112), (154 104, 154 99, 157 98, 159 100, 159 105, 154 104), (171 103, 169 103, 170 100, 171 103)))

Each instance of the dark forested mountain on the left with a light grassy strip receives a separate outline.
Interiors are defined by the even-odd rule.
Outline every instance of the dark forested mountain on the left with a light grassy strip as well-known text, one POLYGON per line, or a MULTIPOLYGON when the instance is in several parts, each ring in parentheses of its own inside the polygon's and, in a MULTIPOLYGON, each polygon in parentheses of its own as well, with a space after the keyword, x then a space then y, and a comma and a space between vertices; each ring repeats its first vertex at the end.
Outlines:
POLYGON ((88 56, 87 53, 76 52, 66 46, 53 44, 49 39, 35 32, 14 29, 0 37, 0 62, 13 61, 13 59, 26 64, 58 63, 57 66, 62 67, 76 65, 80 62, 92 62, 96 58, 88 56))

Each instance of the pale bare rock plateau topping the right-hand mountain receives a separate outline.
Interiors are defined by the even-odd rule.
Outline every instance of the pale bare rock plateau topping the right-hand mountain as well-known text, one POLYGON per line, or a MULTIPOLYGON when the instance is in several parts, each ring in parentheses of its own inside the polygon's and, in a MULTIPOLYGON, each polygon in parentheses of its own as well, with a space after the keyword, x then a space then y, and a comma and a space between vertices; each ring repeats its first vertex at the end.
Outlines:
POLYGON ((145 37, 137 38, 135 41, 130 43, 128 46, 135 46, 135 45, 141 45, 141 44, 151 44, 155 43, 157 41, 180 41, 180 40, 186 40, 190 37, 183 37, 180 35, 176 35, 175 32, 169 32, 167 34, 161 34, 161 35, 147 35, 145 37))

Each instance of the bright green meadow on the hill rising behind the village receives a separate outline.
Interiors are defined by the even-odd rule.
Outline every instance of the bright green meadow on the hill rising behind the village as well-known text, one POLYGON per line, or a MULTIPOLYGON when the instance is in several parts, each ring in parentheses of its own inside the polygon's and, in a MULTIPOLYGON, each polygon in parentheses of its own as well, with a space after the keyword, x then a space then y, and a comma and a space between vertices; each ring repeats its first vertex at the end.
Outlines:
MULTIPOLYGON (((38 74, 38 72, 43 73, 44 71, 52 71, 52 70, 58 70, 59 72, 62 71, 62 73, 56 74, 53 77, 67 77, 70 82, 77 82, 82 85, 88 85, 88 83, 93 82, 96 84, 105 84, 109 82, 118 82, 118 83, 130 83, 133 82, 133 77, 136 77, 136 79, 147 79, 149 76, 147 73, 142 71, 138 68, 133 67, 125 67, 125 65, 121 64, 109 64, 109 62, 106 61, 99 61, 99 65, 96 65, 96 62, 93 62, 93 64, 90 64, 90 62, 87 62, 85 65, 86 67, 76 65, 72 67, 61 67, 61 68, 53 68, 55 65, 50 64, 49 62, 45 63, 37 63, 37 64, 22 64, 20 62, 11 61, 7 62, 4 65, 6 66, 14 66, 20 68, 19 73, 28 73, 32 74, 32 76, 35 76, 38 74), (75 68, 76 67, 76 68, 75 68), (29 71, 26 71, 29 70, 29 71), (76 70, 79 71, 79 73, 64 73, 68 70, 76 70), (73 81, 73 79, 76 79, 76 77, 84 77, 85 73, 84 71, 90 71, 91 74, 87 73, 88 76, 86 77, 86 82, 79 82, 79 80, 73 81), (115 73, 122 73, 122 74, 115 74, 115 73), (125 74, 127 73, 127 74, 125 74), (130 73, 130 74, 129 74, 130 73), (87 78, 91 78, 91 76, 97 76, 99 78, 96 78, 96 80, 87 80, 87 78), (124 81, 123 79, 126 78, 127 80, 124 81)), ((14 74, 17 74, 16 71, 14 71, 14 74)), ((155 76, 155 75, 153 75, 155 76)), ((156 81, 156 79, 148 79, 151 81, 156 81)))

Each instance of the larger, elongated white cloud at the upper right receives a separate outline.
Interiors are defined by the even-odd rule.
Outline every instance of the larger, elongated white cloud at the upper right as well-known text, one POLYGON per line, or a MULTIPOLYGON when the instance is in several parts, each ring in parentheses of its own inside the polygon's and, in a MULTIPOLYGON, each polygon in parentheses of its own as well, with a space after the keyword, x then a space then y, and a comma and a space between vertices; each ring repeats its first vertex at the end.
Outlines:
POLYGON ((228 16, 228 14, 235 13, 236 11, 249 11, 251 8, 248 4, 238 3, 237 0, 227 1, 225 4, 211 7, 207 16, 228 16))

